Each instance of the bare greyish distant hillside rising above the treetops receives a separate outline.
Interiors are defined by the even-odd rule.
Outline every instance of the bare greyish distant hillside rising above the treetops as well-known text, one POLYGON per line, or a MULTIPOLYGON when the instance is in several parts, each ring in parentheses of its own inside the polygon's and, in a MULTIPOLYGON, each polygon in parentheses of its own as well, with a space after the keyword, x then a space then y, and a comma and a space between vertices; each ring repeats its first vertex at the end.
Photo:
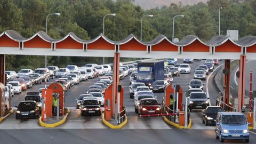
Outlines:
POLYGON ((135 0, 135 5, 140 5, 143 9, 153 9, 156 7, 161 8, 162 6, 166 5, 169 6, 171 3, 178 4, 179 2, 182 5, 193 5, 199 2, 206 3, 208 0, 135 0))

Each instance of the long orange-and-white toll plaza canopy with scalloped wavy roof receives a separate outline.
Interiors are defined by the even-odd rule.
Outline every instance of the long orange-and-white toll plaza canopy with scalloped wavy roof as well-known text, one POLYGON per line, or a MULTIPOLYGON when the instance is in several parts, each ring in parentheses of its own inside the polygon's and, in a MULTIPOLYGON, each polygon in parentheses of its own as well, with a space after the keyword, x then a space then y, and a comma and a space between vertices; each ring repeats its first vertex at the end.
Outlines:
POLYGON ((30 38, 14 30, 0 35, 0 54, 114 57, 115 52, 119 52, 120 57, 130 58, 240 59, 245 55, 246 59, 256 59, 256 37, 247 36, 234 42, 228 36, 215 36, 203 42, 188 35, 173 43, 164 35, 149 42, 142 42, 134 35, 112 41, 102 34, 84 40, 72 32, 62 39, 53 39, 44 31, 30 38))

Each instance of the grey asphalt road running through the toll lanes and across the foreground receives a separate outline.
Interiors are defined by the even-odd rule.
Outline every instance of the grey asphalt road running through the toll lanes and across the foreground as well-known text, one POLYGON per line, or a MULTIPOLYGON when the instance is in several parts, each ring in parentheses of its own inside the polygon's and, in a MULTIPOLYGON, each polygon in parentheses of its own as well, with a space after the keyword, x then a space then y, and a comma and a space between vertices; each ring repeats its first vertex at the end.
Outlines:
MULTIPOLYGON (((179 60, 182 63, 182 60, 179 60)), ((188 83, 193 79, 194 69, 204 61, 195 61, 191 64, 190 74, 181 74, 174 77, 183 92, 188 90, 188 83)), ((221 63, 221 62, 220 62, 221 63)), ((216 67, 216 66, 215 66, 216 67)), ((217 70, 213 71, 216 73, 217 70)), ((211 104, 215 105, 218 89, 213 82, 214 74, 209 73, 208 83, 204 81, 204 90, 208 87, 211 104)), ((82 117, 79 111, 74 111, 76 98, 85 93, 88 86, 98 78, 89 79, 73 86, 66 92, 66 107, 71 110, 67 122, 53 129, 46 129, 38 125, 38 119, 15 119, 11 114, 0 124, 1 143, 216 143, 214 137, 215 126, 205 126, 201 121, 202 110, 193 110, 190 118, 193 121, 191 130, 179 130, 167 125, 162 117, 137 117, 134 112, 134 102, 129 98, 129 77, 121 81, 124 88, 124 105, 127 108, 129 122, 121 130, 110 130, 102 124, 100 116, 82 117), (29 130, 28 130, 29 129, 29 130)), ((54 79, 47 83, 51 84, 54 79)), ((28 91, 37 91, 43 85, 34 85, 28 91)), ((25 98, 27 91, 15 94, 12 98, 12 107, 25 98)), ((159 102, 162 102, 164 93, 154 93, 159 102)), ((185 101, 185 99, 183 99, 185 101)), ((256 135, 251 134, 250 142, 255 142, 256 135)), ((243 142, 243 141, 230 141, 243 142)))

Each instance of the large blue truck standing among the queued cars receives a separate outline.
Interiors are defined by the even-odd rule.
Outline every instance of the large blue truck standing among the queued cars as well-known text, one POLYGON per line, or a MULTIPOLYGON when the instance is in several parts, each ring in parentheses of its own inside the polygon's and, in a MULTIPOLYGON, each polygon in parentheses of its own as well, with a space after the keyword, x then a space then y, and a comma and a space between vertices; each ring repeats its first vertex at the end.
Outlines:
POLYGON ((164 80, 164 61, 145 61, 138 63, 136 82, 151 86, 157 80, 164 80))

